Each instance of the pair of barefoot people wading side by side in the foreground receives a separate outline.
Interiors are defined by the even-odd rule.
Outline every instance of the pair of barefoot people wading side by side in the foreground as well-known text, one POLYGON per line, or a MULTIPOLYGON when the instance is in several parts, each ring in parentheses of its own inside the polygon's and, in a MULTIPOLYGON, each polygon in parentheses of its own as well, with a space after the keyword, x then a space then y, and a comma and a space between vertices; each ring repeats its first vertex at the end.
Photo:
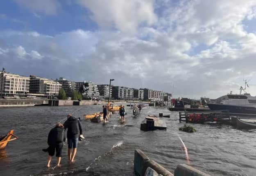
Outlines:
POLYGON ((82 125, 79 119, 73 117, 72 115, 67 115, 67 120, 64 124, 57 123, 53 129, 50 130, 48 134, 48 145, 47 149, 43 151, 48 152, 48 163, 47 167, 50 167, 52 156, 56 151, 57 166, 60 167, 63 142, 68 141, 68 159, 70 162, 75 162, 75 155, 77 153, 77 144, 79 136, 83 137, 82 125), (66 129, 67 135, 65 133, 66 129))

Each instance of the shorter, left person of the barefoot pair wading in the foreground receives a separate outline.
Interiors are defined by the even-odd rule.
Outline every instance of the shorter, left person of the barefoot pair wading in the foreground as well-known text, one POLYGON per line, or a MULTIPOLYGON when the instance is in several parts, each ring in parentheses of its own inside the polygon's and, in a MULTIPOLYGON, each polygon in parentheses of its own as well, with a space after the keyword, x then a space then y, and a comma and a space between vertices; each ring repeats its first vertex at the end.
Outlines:
POLYGON ((57 166, 60 167, 63 141, 65 141, 64 126, 61 123, 57 123, 56 126, 51 129, 50 133, 48 134, 47 143, 49 147, 46 150, 48 151, 49 156, 47 167, 50 167, 52 156, 54 156, 55 150, 57 157, 57 166))

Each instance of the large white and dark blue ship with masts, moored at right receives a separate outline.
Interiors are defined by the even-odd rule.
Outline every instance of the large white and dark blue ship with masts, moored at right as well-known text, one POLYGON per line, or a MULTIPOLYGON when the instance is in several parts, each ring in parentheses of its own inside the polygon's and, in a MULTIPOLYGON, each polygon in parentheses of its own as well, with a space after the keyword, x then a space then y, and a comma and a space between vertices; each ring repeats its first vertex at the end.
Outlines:
POLYGON ((245 81, 245 88, 240 86, 240 94, 224 95, 215 101, 207 102, 211 110, 229 110, 231 115, 256 115, 256 97, 245 92, 248 81, 245 81), (242 94, 242 91, 245 93, 242 94))

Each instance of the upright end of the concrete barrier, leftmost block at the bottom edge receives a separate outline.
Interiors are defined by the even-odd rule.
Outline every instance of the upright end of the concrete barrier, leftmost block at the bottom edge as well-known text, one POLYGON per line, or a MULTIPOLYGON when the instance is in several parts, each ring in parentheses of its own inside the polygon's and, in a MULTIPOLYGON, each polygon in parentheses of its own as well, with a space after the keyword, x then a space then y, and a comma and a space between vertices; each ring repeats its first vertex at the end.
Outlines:
POLYGON ((145 162, 149 160, 150 159, 145 155, 145 153, 143 153, 143 151, 136 149, 134 151, 134 172, 139 176, 144 176, 144 165, 145 162))

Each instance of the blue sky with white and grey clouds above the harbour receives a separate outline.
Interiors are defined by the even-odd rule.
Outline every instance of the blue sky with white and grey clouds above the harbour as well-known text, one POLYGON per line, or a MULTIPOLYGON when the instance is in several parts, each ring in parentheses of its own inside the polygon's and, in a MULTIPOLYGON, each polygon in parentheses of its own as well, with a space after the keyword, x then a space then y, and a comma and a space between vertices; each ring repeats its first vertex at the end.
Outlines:
POLYGON ((256 1, 1 1, 0 67, 190 98, 245 78, 255 96, 256 1))

